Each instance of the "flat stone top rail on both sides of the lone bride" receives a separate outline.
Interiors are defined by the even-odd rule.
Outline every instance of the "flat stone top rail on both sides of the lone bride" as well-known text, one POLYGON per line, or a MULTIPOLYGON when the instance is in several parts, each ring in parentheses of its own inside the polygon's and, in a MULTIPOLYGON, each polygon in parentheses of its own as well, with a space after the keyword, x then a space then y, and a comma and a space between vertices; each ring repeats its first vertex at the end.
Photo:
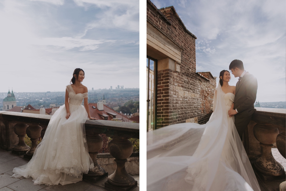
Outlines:
MULTIPOLYGON (((51 117, 51 115, 0 111, 0 120, 4 119, 23 123, 48 125, 51 117)), ((85 128, 88 133, 104 133, 107 135, 139 139, 139 123, 87 119, 85 128)))

